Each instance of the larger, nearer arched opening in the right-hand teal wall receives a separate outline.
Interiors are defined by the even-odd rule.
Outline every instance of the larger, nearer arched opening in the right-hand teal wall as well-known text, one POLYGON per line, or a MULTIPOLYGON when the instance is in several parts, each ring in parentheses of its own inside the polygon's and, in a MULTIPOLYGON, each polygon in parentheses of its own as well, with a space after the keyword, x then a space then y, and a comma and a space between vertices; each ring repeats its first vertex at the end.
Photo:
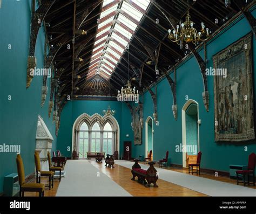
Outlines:
POLYGON ((199 148, 199 109, 198 103, 188 100, 182 108, 182 151, 183 167, 186 168, 188 161, 193 163, 199 148))

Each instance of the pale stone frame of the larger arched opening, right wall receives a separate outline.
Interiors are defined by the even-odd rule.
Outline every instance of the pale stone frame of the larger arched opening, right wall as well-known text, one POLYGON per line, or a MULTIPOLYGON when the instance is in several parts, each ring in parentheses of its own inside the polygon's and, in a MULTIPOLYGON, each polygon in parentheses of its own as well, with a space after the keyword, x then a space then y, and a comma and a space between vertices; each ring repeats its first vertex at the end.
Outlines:
MULTIPOLYGON (((200 139, 199 139, 199 105, 196 100, 187 100, 184 104, 182 111, 181 111, 181 117, 182 117, 182 146, 183 148, 186 147, 186 110, 188 106, 190 106, 192 103, 197 105, 197 144, 198 144, 198 151, 200 151, 200 139)), ((182 150, 181 150, 182 151, 182 150)), ((182 152, 182 165, 183 168, 186 168, 186 153, 182 152)))

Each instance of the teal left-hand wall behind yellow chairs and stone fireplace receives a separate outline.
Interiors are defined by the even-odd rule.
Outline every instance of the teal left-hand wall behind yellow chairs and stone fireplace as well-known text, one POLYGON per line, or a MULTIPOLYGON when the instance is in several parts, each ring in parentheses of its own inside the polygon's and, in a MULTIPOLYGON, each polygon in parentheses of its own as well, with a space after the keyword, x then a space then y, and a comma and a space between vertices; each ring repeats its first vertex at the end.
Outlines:
MULTIPOLYGON (((42 77, 34 77, 26 89, 30 11, 31 1, 3 0, 0 9, 0 144, 21 145, 25 175, 34 171, 38 114, 54 137, 53 149, 57 142, 55 124, 52 124, 52 118, 48 119, 48 105, 40 106, 42 77), (9 95, 11 100, 8 100, 9 95)), ((38 68, 43 67, 43 53, 44 32, 41 28, 36 44, 38 68)), ((49 83, 48 80, 48 87, 49 83)), ((14 172, 17 172, 16 153, 0 153, 0 192, 3 191, 3 177, 14 172)))

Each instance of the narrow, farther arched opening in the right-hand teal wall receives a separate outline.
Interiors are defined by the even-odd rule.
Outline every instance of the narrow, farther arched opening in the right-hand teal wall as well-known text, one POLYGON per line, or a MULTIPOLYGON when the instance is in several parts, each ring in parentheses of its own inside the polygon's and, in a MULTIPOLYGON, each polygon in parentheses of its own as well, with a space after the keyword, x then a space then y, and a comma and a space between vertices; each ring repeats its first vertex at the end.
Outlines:
POLYGON ((145 129, 146 133, 146 143, 145 143, 145 157, 147 157, 147 155, 150 153, 150 150, 152 150, 152 156, 151 156, 151 160, 153 160, 153 133, 154 133, 154 129, 153 129, 153 119, 149 116, 146 119, 146 129, 145 129))

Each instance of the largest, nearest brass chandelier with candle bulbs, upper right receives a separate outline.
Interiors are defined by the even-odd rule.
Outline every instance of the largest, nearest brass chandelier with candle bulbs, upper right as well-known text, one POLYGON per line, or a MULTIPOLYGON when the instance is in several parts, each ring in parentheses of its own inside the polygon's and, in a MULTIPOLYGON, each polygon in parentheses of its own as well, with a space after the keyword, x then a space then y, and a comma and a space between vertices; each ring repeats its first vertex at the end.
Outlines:
MULTIPOLYGON (((187 1, 187 7, 188 6, 188 1, 187 1)), ((186 20, 184 23, 181 23, 180 25, 176 26, 176 29, 173 29, 171 31, 170 29, 168 30, 169 35, 168 38, 177 44, 184 44, 184 43, 193 43, 197 44, 198 42, 201 41, 206 41, 207 37, 209 36, 209 29, 205 29, 205 25, 202 22, 201 23, 201 30, 198 32, 197 29, 195 29, 194 23, 190 20, 190 12, 187 11, 186 15, 186 20)))

